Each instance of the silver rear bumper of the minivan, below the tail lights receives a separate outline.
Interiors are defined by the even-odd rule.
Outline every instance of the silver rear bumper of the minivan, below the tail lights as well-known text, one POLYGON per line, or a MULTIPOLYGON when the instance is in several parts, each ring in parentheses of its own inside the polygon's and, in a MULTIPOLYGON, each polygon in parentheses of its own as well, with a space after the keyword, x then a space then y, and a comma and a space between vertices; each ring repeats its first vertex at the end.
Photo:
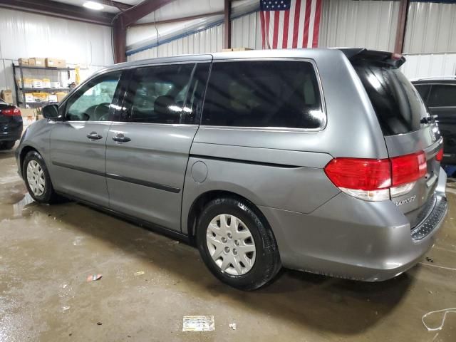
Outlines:
POLYGON ((447 213, 440 169, 436 201, 414 239, 410 222, 391 201, 366 202, 339 193, 311 214, 260 207, 274 231, 282 264, 291 269, 362 281, 393 278, 418 264, 447 213))

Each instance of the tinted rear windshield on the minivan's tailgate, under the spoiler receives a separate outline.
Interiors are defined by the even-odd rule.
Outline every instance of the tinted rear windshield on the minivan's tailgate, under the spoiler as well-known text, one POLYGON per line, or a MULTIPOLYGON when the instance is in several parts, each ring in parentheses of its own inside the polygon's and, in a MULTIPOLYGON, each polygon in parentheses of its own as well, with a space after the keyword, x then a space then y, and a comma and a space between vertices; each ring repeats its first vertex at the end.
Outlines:
POLYGON ((427 110, 415 87, 398 69, 374 64, 356 65, 384 135, 419 130, 427 110))

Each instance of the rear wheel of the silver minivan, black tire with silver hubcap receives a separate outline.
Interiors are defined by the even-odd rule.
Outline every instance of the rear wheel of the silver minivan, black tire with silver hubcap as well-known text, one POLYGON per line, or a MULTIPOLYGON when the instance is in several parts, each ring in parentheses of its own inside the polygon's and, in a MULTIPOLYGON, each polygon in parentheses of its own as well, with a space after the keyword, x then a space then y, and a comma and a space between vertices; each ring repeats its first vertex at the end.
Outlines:
POLYGON ((214 199, 204 207, 197 222, 197 246, 212 274, 237 289, 258 289, 281 268, 271 229, 238 199, 214 199))

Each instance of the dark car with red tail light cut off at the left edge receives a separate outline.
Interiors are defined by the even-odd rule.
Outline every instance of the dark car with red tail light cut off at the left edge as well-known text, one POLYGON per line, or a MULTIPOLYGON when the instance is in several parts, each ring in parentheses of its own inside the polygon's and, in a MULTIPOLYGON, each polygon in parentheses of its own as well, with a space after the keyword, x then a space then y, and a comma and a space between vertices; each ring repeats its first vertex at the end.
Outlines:
POLYGON ((21 110, 0 99, 0 150, 11 150, 21 134, 21 110))

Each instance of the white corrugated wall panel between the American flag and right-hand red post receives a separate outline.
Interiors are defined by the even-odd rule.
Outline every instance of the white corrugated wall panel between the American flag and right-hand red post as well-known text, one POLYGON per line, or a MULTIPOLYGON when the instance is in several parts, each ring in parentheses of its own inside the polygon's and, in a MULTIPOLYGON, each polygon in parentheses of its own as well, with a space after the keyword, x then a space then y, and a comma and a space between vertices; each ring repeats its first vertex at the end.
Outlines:
POLYGON ((393 51, 399 1, 324 0, 318 45, 393 51))

